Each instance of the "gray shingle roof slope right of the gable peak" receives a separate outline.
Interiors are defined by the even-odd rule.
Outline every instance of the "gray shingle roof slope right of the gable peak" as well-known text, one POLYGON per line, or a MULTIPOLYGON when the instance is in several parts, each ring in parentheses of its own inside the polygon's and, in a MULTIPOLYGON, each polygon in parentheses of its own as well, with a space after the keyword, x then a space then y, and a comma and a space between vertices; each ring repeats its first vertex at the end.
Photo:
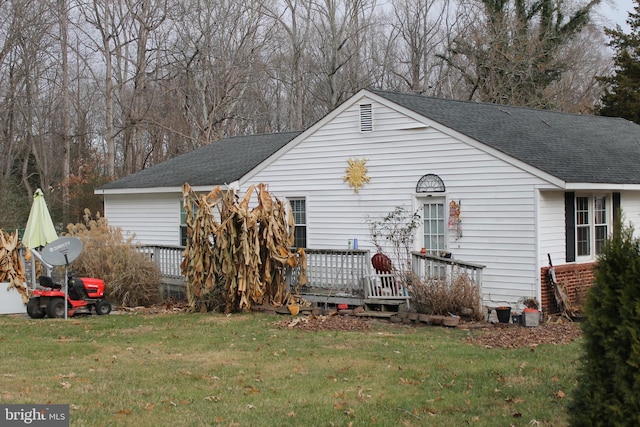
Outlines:
POLYGON ((628 120, 371 92, 565 182, 640 184, 640 125, 628 120))

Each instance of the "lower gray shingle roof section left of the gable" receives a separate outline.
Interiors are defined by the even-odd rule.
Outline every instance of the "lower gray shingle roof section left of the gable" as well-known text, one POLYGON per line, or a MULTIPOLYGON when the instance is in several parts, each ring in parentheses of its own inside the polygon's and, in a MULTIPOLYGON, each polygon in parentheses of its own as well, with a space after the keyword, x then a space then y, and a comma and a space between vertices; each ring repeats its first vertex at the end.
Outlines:
POLYGON ((192 187, 230 184, 299 134, 285 132, 222 139, 110 182, 100 189, 180 187, 185 182, 192 187))

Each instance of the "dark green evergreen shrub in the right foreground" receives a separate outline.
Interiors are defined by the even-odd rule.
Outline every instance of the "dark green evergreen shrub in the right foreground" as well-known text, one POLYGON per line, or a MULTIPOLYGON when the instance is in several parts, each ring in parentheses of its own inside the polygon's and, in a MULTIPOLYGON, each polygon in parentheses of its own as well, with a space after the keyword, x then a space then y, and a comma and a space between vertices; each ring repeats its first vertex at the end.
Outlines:
POLYGON ((571 425, 640 425, 640 241, 616 225, 595 270, 571 425))

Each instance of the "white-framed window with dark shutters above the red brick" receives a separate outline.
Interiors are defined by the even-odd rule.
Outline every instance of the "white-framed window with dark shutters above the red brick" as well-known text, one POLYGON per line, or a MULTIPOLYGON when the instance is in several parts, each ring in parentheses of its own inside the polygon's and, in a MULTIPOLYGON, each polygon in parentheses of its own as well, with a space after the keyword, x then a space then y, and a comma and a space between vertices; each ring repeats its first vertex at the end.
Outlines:
POLYGON ((603 195, 576 196, 576 255, 593 257, 602 252, 609 235, 609 198, 603 195))

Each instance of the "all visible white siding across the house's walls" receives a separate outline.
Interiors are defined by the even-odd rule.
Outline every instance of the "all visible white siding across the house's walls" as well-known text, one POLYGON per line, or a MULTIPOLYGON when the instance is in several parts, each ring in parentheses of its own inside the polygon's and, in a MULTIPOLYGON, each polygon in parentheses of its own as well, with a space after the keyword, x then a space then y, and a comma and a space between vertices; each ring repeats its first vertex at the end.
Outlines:
MULTIPOLYGON (((564 192, 464 137, 373 100, 361 102, 373 106, 373 131, 360 132, 358 103, 336 110, 240 182, 241 193, 263 182, 282 199, 305 197, 310 248, 346 248, 357 238, 360 249, 373 251, 367 218, 379 220, 397 206, 419 208, 424 198, 415 194, 416 183, 436 174, 446 193, 434 197, 445 198, 445 210, 451 200, 461 203, 462 237, 449 230, 448 249, 462 261, 486 265, 485 303, 539 296, 539 269, 547 265, 547 254, 554 264, 565 259, 564 192), (359 193, 343 179, 349 159, 367 160, 370 182, 359 193)), ((105 213, 110 225, 134 233, 142 244, 178 245, 180 200, 177 189, 108 194, 105 213)), ((621 201, 625 219, 640 234, 640 194, 624 191, 621 201)), ((421 241, 420 230, 415 249, 421 241)))

